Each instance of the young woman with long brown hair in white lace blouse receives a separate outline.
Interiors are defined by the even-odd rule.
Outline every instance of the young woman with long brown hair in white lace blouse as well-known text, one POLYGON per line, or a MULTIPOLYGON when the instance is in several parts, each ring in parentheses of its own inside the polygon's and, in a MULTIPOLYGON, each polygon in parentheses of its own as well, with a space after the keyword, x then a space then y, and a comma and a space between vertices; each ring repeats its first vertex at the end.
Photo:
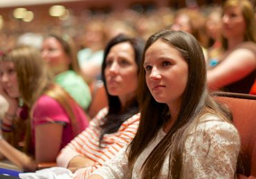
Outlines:
POLYGON ((152 35, 140 72, 136 136, 89 178, 234 178, 239 134, 228 109, 208 94, 194 36, 152 35))

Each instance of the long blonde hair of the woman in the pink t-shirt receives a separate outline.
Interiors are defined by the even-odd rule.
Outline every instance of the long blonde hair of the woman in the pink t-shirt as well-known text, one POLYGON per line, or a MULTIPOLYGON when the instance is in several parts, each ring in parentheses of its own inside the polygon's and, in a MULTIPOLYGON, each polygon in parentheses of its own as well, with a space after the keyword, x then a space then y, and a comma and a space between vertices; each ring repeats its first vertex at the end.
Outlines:
POLYGON ((13 48, 3 60, 14 63, 19 93, 30 108, 44 92, 45 87, 53 82, 39 50, 28 45, 19 45, 13 48))

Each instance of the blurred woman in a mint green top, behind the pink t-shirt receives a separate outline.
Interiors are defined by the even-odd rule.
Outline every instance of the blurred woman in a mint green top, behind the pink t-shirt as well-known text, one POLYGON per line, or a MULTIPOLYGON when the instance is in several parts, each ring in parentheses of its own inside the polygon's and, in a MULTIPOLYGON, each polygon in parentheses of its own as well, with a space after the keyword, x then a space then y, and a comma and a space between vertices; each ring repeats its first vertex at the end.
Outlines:
POLYGON ((71 37, 50 34, 43 41, 42 56, 55 75, 55 82, 86 110, 91 103, 91 92, 80 76, 77 52, 71 37))

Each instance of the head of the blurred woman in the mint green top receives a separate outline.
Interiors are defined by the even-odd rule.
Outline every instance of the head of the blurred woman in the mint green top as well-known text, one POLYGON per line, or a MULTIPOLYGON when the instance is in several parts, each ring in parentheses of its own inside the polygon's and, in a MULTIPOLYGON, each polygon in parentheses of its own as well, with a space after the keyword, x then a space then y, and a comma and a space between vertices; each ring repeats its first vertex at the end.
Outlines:
POLYGON ((75 44, 70 36, 48 35, 42 44, 42 56, 54 74, 66 70, 80 72, 76 56, 75 44))

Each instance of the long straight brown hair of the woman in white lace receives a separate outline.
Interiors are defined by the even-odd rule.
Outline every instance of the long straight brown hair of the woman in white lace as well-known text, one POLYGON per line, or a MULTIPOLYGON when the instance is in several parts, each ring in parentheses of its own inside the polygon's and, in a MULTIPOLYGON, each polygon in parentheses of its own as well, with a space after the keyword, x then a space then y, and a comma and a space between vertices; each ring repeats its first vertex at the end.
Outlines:
MULTIPOLYGON (((218 113, 224 120, 231 120, 230 112, 215 103, 208 94, 206 87, 206 69, 201 45, 194 36, 183 31, 163 30, 149 37, 145 45, 145 52, 155 41, 163 41, 179 50, 188 63, 188 82, 183 92, 181 109, 177 119, 166 136, 149 154, 143 164, 143 178, 158 178, 163 162, 169 155, 169 178, 181 178, 183 169, 183 149, 188 134, 198 123, 198 119, 205 113, 218 113)), ((143 63, 140 65, 138 97, 140 103, 140 125, 134 140, 129 145, 128 160, 129 173, 134 162, 149 143, 156 137, 158 130, 170 118, 166 104, 158 103, 149 92, 145 82, 143 63)))

